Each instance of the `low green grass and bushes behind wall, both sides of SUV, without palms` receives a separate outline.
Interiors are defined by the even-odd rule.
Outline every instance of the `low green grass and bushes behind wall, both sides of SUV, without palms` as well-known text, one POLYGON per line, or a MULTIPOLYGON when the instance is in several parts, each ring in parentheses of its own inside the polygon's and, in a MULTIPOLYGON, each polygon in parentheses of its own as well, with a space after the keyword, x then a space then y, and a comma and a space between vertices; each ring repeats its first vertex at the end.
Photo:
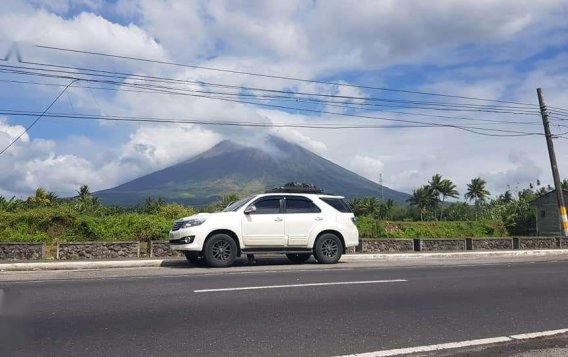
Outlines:
MULTIPOLYGON (((0 241, 80 242, 150 241, 167 239, 172 222, 195 213, 178 204, 151 209, 108 207, 78 209, 73 204, 0 211, 0 241)), ((359 217, 362 238, 500 237, 507 231, 500 221, 389 222, 359 217)))

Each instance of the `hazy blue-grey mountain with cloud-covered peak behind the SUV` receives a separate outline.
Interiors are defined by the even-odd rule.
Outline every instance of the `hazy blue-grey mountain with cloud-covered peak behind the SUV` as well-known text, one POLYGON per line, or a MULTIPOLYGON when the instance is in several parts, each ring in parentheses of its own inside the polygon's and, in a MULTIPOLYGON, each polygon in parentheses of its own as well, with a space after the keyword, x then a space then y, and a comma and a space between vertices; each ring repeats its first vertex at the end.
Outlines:
MULTIPOLYGON (((286 182, 313 183, 348 198, 380 197, 381 186, 313 152, 271 136, 263 149, 223 141, 189 160, 96 192, 103 202, 133 205, 147 197, 185 204, 207 204, 222 194, 264 192, 286 182)), ((407 194, 383 188, 385 199, 404 202, 407 194)))

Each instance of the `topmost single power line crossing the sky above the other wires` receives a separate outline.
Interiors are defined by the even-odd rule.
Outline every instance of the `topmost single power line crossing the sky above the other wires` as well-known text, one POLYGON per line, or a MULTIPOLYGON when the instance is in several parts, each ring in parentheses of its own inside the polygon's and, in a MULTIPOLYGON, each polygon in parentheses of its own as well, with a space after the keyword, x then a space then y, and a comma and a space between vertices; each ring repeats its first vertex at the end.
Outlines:
POLYGON ((141 61, 141 62, 163 64, 163 65, 170 65, 170 66, 176 66, 176 67, 203 69, 203 70, 208 70, 208 71, 232 73, 232 74, 239 74, 239 75, 249 75, 249 76, 264 77, 264 78, 283 79, 283 80, 290 80, 290 81, 296 81, 296 82, 317 83, 317 84, 324 84, 324 85, 333 85, 333 86, 342 86, 342 87, 351 87, 351 88, 362 88, 362 89, 370 89, 370 90, 381 90, 381 91, 399 92, 399 93, 408 93, 408 94, 419 94, 419 95, 447 97, 447 98, 456 98, 456 99, 468 99, 468 100, 475 100, 475 101, 517 104, 517 105, 530 106, 530 107, 536 106, 536 104, 532 104, 532 103, 522 103, 522 102, 504 101, 504 100, 487 99, 487 98, 476 98, 476 97, 469 97, 469 96, 458 96, 458 95, 433 93, 433 92, 411 91, 411 90, 405 90, 405 89, 372 87, 372 86, 363 86, 363 85, 355 85, 355 84, 347 84, 347 83, 326 82, 326 81, 318 81, 318 80, 305 79, 305 78, 295 78, 295 77, 289 77, 289 76, 262 74, 262 73, 247 72, 247 71, 237 71, 237 70, 230 70, 230 69, 223 69, 223 68, 216 68, 216 67, 206 67, 206 66, 199 66, 199 65, 192 65, 192 64, 183 64, 183 63, 176 63, 176 62, 169 62, 169 61, 151 60, 151 59, 138 58, 138 57, 132 57, 132 56, 113 55, 113 54, 107 54, 107 53, 101 53, 101 52, 84 51, 84 50, 55 47, 55 46, 34 45, 34 47, 41 48, 41 49, 54 50, 54 51, 63 51, 63 52, 69 52, 69 53, 80 53, 80 54, 87 54, 87 55, 94 55, 94 56, 102 56, 102 57, 109 57, 109 58, 141 61))

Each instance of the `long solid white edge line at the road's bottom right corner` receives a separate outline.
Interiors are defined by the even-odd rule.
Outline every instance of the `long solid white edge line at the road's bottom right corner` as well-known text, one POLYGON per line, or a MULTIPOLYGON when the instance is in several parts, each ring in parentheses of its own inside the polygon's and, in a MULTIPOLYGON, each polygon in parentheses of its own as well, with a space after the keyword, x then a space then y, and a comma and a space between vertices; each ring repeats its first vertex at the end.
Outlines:
POLYGON ((392 350, 356 353, 356 354, 344 355, 344 356, 340 356, 340 357, 400 356, 400 355, 405 355, 405 354, 410 354, 410 353, 450 350, 450 349, 455 349, 455 348, 489 345, 489 344, 493 344, 493 343, 511 342, 511 341, 515 341, 515 340, 529 340, 529 339, 533 339, 533 338, 554 336, 554 335, 559 335, 559 334, 563 334, 563 333, 568 333, 568 329, 532 332, 532 333, 524 333, 524 334, 519 334, 519 335, 511 335, 511 336, 491 337, 491 338, 483 338, 483 339, 479 339, 479 340, 449 342, 449 343, 441 343, 441 344, 437 344, 437 345, 396 348, 396 349, 392 349, 392 350))

